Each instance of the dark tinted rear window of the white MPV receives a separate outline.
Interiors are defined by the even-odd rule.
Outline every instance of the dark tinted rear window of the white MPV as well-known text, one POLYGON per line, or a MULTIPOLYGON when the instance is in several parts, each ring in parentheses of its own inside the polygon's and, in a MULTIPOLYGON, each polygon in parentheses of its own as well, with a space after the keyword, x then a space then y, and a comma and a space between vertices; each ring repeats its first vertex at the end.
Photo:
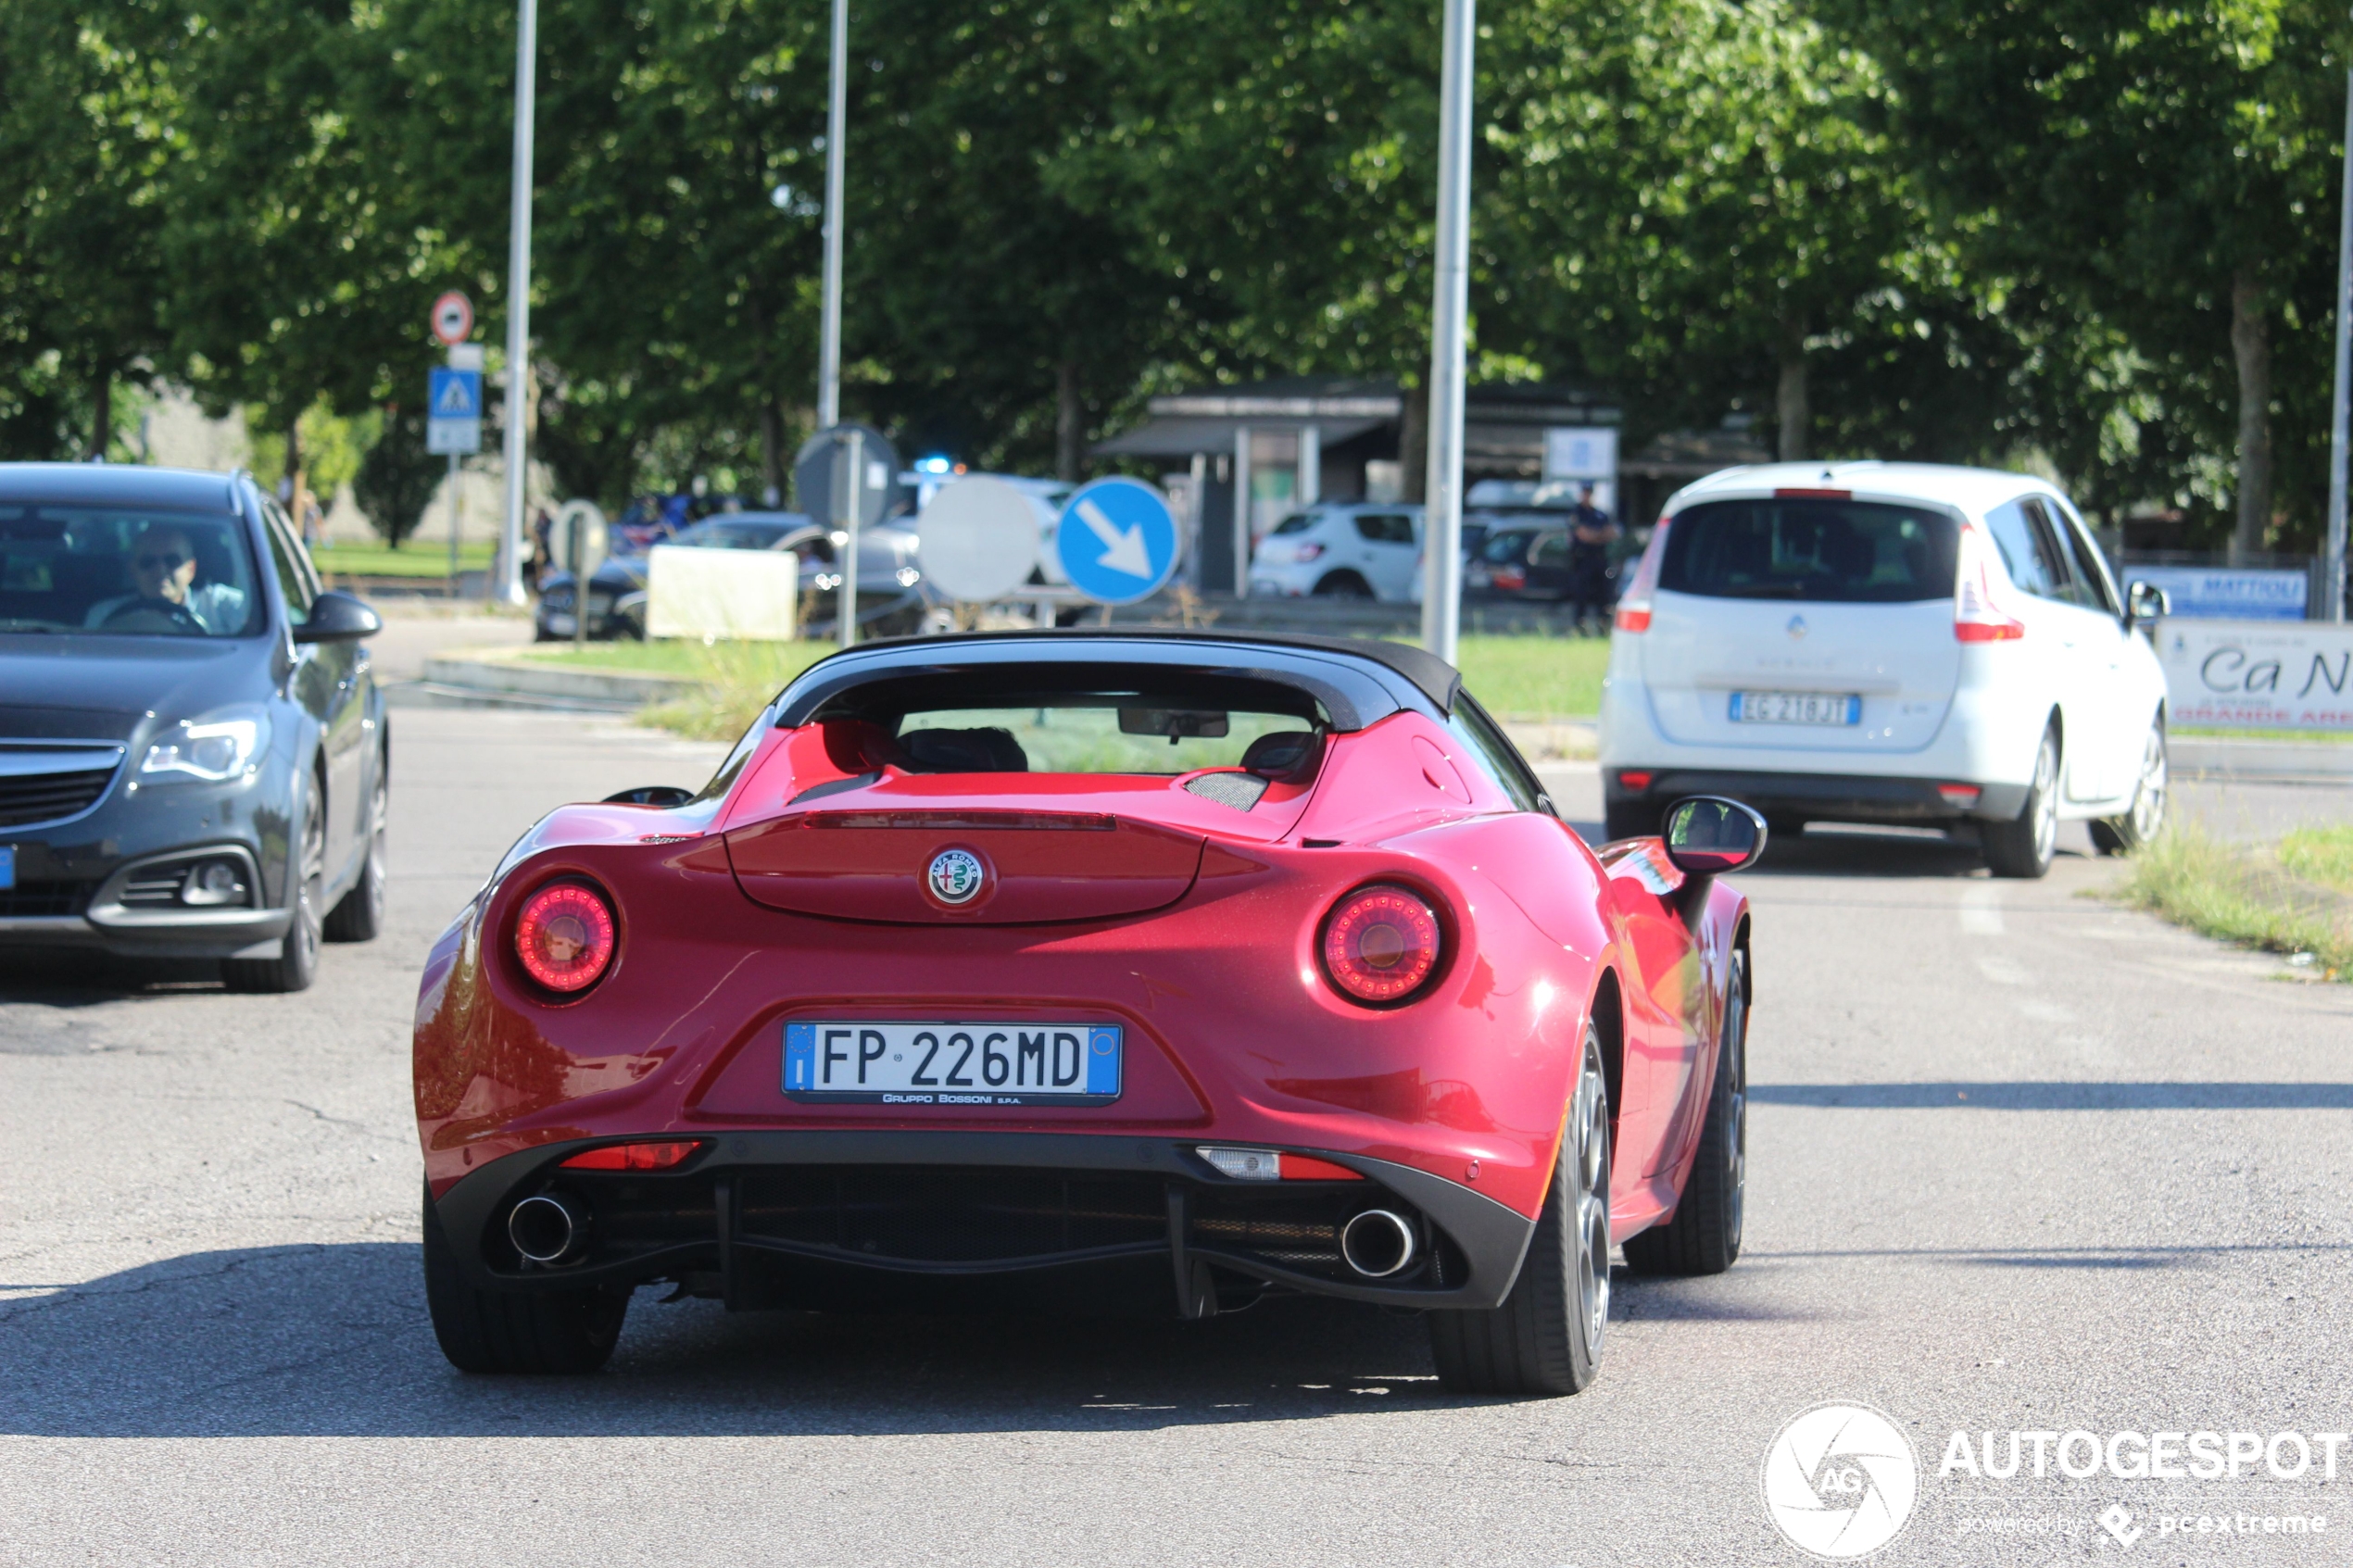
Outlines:
POLYGON ((1675 512, 1659 588, 1711 599, 1948 599, 1958 534, 1944 512, 1882 501, 1711 501, 1675 512))

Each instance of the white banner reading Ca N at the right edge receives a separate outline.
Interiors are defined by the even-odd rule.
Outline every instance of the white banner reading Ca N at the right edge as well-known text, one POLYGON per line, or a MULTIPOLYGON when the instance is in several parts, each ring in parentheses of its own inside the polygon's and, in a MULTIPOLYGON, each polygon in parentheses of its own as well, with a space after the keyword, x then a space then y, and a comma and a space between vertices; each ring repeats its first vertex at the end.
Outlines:
POLYGON ((2245 729, 2353 729, 2353 625, 2160 621, 2167 717, 2245 729))

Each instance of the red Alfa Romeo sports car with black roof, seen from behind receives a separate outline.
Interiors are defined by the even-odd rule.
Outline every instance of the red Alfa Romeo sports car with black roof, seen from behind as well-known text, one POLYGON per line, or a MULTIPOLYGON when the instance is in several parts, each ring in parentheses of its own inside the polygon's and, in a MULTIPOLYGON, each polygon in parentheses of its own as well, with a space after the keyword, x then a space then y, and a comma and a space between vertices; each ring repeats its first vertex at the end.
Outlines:
POLYGON ((1400 644, 1047 632, 812 665, 701 792, 544 818, 416 1001, 433 1328, 588 1371, 727 1307, 1417 1307, 1574 1394, 1609 1248, 1741 1246, 1765 823, 1588 849, 1400 644))

